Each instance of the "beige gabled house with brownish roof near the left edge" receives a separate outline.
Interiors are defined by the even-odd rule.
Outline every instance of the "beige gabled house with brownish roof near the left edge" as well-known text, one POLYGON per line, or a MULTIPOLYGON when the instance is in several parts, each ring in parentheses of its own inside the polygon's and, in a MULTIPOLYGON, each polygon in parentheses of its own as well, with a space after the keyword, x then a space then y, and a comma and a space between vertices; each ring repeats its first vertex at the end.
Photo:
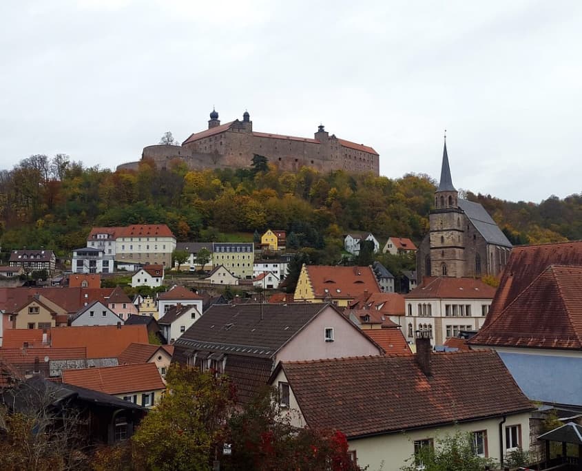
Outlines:
POLYGON ((34 295, 10 315, 12 328, 51 328, 66 326, 67 311, 41 295, 34 295))

